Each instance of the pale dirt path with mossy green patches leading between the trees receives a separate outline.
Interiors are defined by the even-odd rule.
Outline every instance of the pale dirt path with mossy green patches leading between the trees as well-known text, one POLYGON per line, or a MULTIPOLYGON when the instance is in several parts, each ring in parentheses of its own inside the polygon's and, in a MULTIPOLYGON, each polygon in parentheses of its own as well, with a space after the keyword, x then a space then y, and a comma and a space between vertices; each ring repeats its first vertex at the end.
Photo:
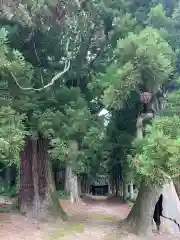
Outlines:
MULTIPOLYGON (((2 240, 120 240, 118 224, 130 210, 117 199, 94 201, 85 199, 85 203, 70 204, 61 201, 69 215, 68 223, 56 221, 37 226, 25 217, 17 214, 0 213, 0 239, 2 240)), ((136 240, 134 236, 126 240, 136 240)), ((154 236, 151 240, 177 240, 172 236, 154 236)), ((149 239, 147 239, 149 240, 149 239)))

